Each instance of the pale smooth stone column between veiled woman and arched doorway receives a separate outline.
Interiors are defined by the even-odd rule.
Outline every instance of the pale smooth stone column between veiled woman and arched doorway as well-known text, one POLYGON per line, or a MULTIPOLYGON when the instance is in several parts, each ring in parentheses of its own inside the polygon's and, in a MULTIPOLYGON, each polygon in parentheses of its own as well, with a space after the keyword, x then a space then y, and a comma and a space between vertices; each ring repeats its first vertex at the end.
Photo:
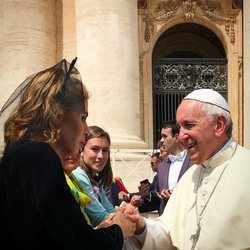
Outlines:
POLYGON ((113 147, 141 140, 137 1, 76 0, 78 68, 91 94, 89 125, 111 135, 113 147))

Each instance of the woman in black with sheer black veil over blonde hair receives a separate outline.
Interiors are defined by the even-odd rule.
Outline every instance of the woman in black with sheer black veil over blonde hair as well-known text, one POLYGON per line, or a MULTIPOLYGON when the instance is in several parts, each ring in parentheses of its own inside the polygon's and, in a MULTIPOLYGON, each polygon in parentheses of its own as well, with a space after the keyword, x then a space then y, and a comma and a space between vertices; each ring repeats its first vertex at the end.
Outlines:
MULTIPOLYGON (((75 59, 76 60, 76 59, 75 59)), ((6 249, 121 249, 135 225, 118 211, 107 228, 88 225, 67 185, 66 155, 78 155, 88 127, 88 92, 65 59, 27 78, 0 111, 0 239, 6 249)))

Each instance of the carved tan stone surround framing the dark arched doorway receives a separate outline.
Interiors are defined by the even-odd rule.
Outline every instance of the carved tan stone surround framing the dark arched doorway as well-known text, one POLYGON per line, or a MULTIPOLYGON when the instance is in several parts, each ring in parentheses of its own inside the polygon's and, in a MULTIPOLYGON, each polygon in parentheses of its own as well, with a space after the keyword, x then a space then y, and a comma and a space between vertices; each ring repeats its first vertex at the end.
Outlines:
MULTIPOLYGON (((213 1, 214 4, 210 1, 177 0, 175 5, 168 0, 142 2, 145 4, 139 5, 138 15, 142 130, 145 142, 149 147, 153 147, 152 59, 155 45, 163 33, 172 27, 179 24, 197 24, 215 34, 219 43, 214 44, 220 44, 224 48, 228 62, 227 97, 234 123, 233 136, 242 144, 242 11, 240 7, 232 5, 231 0, 213 1)), ((199 29, 197 32, 200 32, 199 29)))

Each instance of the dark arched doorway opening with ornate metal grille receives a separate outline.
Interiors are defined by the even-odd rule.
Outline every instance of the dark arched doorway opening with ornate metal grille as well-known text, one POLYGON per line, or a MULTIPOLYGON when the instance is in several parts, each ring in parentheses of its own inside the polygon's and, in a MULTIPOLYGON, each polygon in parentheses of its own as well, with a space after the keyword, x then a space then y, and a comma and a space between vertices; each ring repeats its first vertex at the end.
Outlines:
POLYGON ((227 58, 208 28, 183 23, 166 30, 152 54, 154 147, 162 123, 174 120, 181 100, 192 90, 213 88, 227 98, 227 58))

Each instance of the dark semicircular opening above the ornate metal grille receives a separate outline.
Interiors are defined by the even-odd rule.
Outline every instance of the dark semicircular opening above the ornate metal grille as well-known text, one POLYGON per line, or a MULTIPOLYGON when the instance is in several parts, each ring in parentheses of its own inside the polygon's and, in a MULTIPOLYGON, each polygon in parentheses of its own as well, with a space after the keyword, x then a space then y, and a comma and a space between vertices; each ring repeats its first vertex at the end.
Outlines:
POLYGON ((225 58, 216 34, 197 23, 179 23, 167 29, 154 45, 152 60, 161 58, 225 58))

